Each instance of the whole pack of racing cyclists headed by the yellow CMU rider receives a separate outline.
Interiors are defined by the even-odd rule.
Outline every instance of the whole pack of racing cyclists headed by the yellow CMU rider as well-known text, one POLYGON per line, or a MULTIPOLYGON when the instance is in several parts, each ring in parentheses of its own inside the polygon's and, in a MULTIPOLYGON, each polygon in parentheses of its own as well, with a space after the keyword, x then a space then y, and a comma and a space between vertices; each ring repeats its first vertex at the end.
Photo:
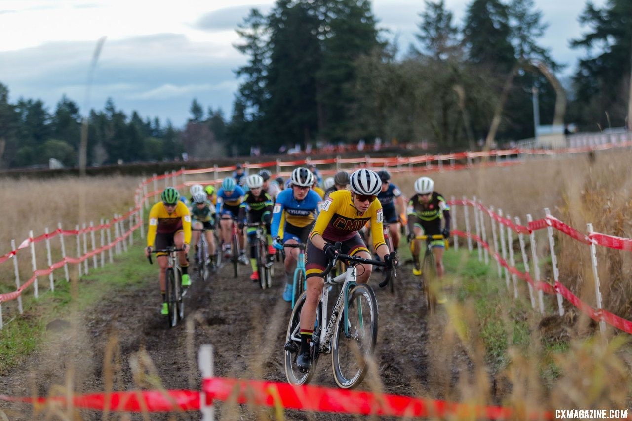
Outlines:
MULTIPOLYGON (((225 257, 231 255, 231 240, 234 226, 243 233, 238 236, 239 261, 247 265, 250 260, 252 281, 259 281, 257 259, 255 259, 256 227, 253 223, 265 226, 268 235, 271 257, 277 250, 283 250, 285 286, 283 300, 291 301, 293 296, 293 276, 298 258, 298 248, 284 247, 287 244, 304 243, 307 247, 305 271, 307 275, 307 301, 301 313, 301 341, 298 365, 308 369, 309 338, 315 319, 315 308, 319 302, 323 278, 319 274, 327 261, 336 253, 358 255, 371 258, 367 243, 360 236, 363 227, 370 229, 372 252, 384 262, 396 259, 400 238, 400 224, 408 231, 407 240, 413 255, 413 275, 420 275, 420 256, 422 242, 420 235, 450 234, 451 217, 449 205, 444 197, 434 190, 434 181, 423 176, 414 183, 415 195, 406 199, 398 186, 391 183, 391 174, 386 170, 371 171, 358 169, 349 174, 339 171, 333 177, 326 178, 320 188, 315 176, 315 168, 300 167, 292 171, 285 181, 272 178, 272 173, 262 169, 258 173, 245 174, 243 166, 238 164, 233 176, 224 178, 219 189, 212 183, 190 187, 190 207, 181 200, 178 190, 167 187, 161 195, 161 201, 152 206, 149 214, 149 230, 145 254, 152 250, 162 250, 170 245, 183 248, 179 252, 182 267, 182 286, 190 285, 188 274, 188 251, 193 244, 194 259, 198 259, 198 241, 204 235, 209 255, 206 257, 210 267, 216 266, 216 253, 225 257), (243 186, 242 186, 243 185, 243 186), (406 216, 402 220, 401 216, 406 216), (393 250, 384 242, 384 225, 388 226, 393 250), (252 226, 251 226, 252 225, 252 226), (193 228, 193 229, 191 229, 193 228), (219 244, 216 244, 217 241, 219 244), (246 257, 246 238, 250 246, 249 258, 246 257), (343 247, 336 250, 334 243, 340 241, 343 247), (220 247, 221 246, 221 247, 220 247)), ((437 275, 443 276, 442 256, 444 241, 431 243, 437 275)), ((161 313, 166 314, 164 300, 165 271, 167 259, 164 253, 157 253, 160 266, 159 284, 163 297, 161 313)), ((371 265, 363 265, 358 270, 358 283, 366 283, 372 273, 371 265), (364 267, 365 266, 365 267, 364 267)), ((443 301, 440 297, 439 302, 443 301)))

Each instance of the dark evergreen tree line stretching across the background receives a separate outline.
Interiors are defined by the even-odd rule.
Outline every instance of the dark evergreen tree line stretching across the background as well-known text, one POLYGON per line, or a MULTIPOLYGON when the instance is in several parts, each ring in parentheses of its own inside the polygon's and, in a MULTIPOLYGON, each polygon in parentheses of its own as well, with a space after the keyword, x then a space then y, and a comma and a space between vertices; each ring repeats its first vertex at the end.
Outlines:
MULTIPOLYGON (((538 44, 547 27, 533 0, 472 0, 463 25, 444 0, 425 0, 417 42, 406 52, 384 40, 368 0, 277 0, 269 14, 252 9, 235 45, 247 58, 236 69, 233 114, 191 102, 184 128, 116 109, 109 99, 90 111, 88 164, 170 161, 248 154, 251 147, 427 140, 441 151, 473 149, 493 128, 497 140, 534 133, 540 123, 580 130, 623 126, 629 111, 632 2, 590 1, 579 16, 588 28, 570 40, 585 49, 571 80, 538 44), (563 87, 562 87, 563 85, 563 87), (559 96, 568 96, 560 109, 559 96), (494 128, 492 121, 499 115, 494 128)), ((573 16, 568 16, 572 19, 573 16)), ((82 115, 62 97, 53 111, 40 100, 8 101, 0 83, 0 166, 76 166, 82 115)))

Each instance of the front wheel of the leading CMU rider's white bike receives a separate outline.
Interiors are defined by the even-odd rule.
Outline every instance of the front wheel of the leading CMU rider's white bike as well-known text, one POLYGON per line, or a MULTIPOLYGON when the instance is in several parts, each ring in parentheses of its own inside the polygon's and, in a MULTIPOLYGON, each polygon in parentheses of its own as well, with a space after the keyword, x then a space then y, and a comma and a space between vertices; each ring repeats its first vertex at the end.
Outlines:
POLYGON ((377 299, 370 286, 358 284, 349 291, 346 311, 338 314, 332 339, 331 362, 339 387, 351 389, 362 382, 376 340, 377 299))

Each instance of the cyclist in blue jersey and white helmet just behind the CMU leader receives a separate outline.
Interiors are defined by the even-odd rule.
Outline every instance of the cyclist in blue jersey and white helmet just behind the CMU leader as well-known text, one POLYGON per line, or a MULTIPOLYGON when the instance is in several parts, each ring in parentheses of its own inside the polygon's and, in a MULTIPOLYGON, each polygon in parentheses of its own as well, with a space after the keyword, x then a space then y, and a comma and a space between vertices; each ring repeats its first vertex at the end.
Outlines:
MULTIPOLYGON (((272 245, 281 250, 283 244, 307 243, 307 237, 312 229, 315 216, 318 214, 320 196, 312 190, 313 174, 307 168, 296 168, 289 178, 290 187, 279 193, 272 210, 272 245), (284 218, 283 227, 281 219, 284 218), (279 238, 283 229, 283 240, 279 238)), ((286 286, 283 299, 292 300, 294 269, 298 248, 285 249, 285 279, 286 286)))

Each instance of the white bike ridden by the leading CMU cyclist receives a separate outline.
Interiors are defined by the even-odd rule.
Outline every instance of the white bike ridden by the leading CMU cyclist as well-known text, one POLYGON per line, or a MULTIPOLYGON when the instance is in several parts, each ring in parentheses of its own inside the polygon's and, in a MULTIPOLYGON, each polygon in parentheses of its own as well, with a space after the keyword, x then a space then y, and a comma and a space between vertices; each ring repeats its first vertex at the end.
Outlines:
MULTIPOLYGON (((341 243, 336 243, 337 250, 341 243)), ((312 367, 307 372, 296 365, 296 357, 300 350, 300 315, 307 299, 307 291, 298 298, 292 310, 284 345, 284 366, 288 382, 295 385, 307 384, 313 377, 320 354, 331 353, 332 370, 336 384, 343 389, 355 387, 367 374, 367 361, 373 357, 377 340, 377 298, 368 284, 356 283, 356 265, 359 263, 379 265, 386 268, 380 260, 362 257, 337 255, 330 260, 325 271, 320 274, 325 278, 320 302, 316 311, 316 322, 310 343, 312 367), (328 276, 336 260, 343 259, 349 264, 347 271, 335 278, 328 276), (329 286, 342 284, 331 314, 327 314, 329 286)), ((394 269, 384 271, 384 280, 379 284, 384 288, 392 276, 394 269)))

